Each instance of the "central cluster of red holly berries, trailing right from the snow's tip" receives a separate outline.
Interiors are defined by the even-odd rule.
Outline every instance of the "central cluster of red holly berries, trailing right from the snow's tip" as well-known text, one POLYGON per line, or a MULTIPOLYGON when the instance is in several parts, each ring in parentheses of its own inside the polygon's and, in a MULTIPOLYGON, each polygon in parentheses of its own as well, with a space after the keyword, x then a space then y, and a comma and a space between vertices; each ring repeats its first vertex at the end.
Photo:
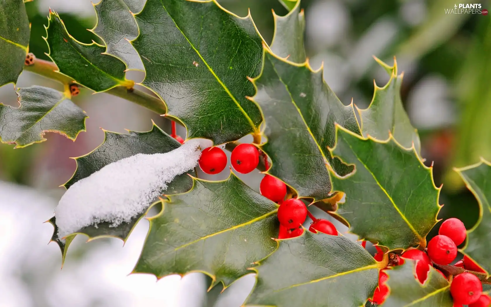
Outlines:
MULTIPOLYGON (((259 164, 259 151, 252 144, 240 144, 232 150, 230 160, 232 167, 236 171, 246 174, 259 164)), ((266 169, 268 169, 266 157, 264 158, 264 163, 266 169)), ((218 174, 227 165, 227 156, 219 147, 208 147, 201 152, 198 164, 205 173, 218 174)), ((310 231, 337 235, 337 229, 334 224, 327 220, 316 219, 308 212, 307 207, 300 199, 290 198, 283 201, 286 196, 286 184, 283 181, 266 175, 261 180, 260 192, 261 195, 280 204, 278 208, 278 220, 280 223, 278 239, 300 236, 303 233, 301 224, 305 222, 307 215, 313 221, 309 228, 310 231)))

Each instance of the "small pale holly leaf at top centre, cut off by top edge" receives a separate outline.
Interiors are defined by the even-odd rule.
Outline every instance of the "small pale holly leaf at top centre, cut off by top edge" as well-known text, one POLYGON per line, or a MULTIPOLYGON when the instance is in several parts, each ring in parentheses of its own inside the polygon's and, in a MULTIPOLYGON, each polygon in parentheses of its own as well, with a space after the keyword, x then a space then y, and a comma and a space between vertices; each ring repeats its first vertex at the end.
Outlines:
POLYGON ((274 35, 271 51, 291 62, 303 63, 306 60, 303 46, 305 19, 300 10, 300 1, 286 16, 278 16, 273 11, 274 35))

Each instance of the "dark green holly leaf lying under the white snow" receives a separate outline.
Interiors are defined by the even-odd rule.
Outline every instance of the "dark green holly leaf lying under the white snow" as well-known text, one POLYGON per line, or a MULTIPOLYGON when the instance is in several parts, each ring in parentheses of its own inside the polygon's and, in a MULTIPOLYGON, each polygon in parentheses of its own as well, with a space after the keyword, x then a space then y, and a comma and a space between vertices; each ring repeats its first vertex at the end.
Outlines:
MULTIPOLYGON (((77 169, 72 178, 65 183, 65 188, 70 188, 75 182, 82 180, 100 170, 106 165, 119 161, 124 158, 131 157, 133 155, 142 154, 156 154, 166 153, 178 148, 181 144, 174 138, 167 135, 154 123, 152 130, 147 132, 135 132, 129 131, 129 134, 120 134, 115 132, 104 131, 105 140, 92 152, 75 158, 77 162, 77 169)), ((162 191, 162 194, 175 194, 184 193, 189 191, 192 187, 192 179, 189 175, 195 175, 193 170, 181 174, 172 180, 168 184, 166 190, 162 191)), ((156 204, 156 203, 154 203, 156 204)), ((152 204, 148 204, 147 211, 152 204)), ((55 241, 60 246, 60 249, 64 256, 68 249, 69 243, 77 234, 86 235, 89 240, 94 240, 98 237, 116 237, 123 241, 128 239, 133 227, 138 221, 146 215, 146 212, 140 216, 134 217, 131 222, 123 222, 116 227, 111 227, 111 223, 102 222, 97 225, 90 225, 80 229, 75 234, 72 234, 66 238, 66 244, 61 242, 57 237, 57 228, 55 225, 55 217, 49 222, 55 226, 55 232, 52 237, 52 241, 55 241)))

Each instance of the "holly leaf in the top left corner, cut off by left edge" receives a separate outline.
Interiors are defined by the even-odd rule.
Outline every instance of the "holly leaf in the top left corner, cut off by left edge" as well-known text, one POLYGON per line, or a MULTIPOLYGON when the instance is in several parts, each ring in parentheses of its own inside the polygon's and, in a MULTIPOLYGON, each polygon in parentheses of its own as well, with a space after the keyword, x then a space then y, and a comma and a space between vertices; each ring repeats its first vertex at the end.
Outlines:
POLYGON ((29 44, 29 20, 22 0, 0 1, 0 86, 16 83, 29 44))

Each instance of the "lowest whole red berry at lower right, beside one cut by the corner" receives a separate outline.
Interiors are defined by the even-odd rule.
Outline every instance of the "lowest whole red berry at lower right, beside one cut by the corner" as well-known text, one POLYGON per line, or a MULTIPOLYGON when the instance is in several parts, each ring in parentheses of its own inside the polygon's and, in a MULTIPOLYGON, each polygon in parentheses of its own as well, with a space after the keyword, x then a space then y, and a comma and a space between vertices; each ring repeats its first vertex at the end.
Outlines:
POLYGON ((483 292, 481 280, 471 273, 462 273, 454 277, 450 284, 450 293, 454 301, 468 305, 477 302, 483 292))

